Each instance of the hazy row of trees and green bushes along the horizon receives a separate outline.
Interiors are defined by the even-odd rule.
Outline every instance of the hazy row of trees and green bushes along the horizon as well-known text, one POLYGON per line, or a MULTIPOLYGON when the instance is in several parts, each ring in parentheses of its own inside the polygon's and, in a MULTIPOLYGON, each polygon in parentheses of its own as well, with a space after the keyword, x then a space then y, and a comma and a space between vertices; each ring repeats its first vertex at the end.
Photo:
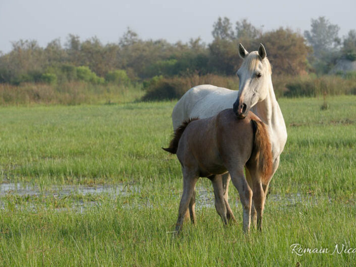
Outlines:
POLYGON ((169 43, 164 39, 142 40, 128 29, 117 43, 103 44, 98 38, 81 41, 69 34, 40 47, 35 40, 12 43, 12 50, 0 54, 0 83, 64 83, 85 81, 94 84, 128 83, 163 77, 189 75, 234 75, 241 64, 237 45, 248 50, 265 44, 275 74, 326 74, 340 58, 356 60, 356 31, 339 37, 339 26, 325 17, 311 20, 303 34, 289 28, 263 31, 246 19, 234 25, 218 18, 213 41, 200 38, 169 43))

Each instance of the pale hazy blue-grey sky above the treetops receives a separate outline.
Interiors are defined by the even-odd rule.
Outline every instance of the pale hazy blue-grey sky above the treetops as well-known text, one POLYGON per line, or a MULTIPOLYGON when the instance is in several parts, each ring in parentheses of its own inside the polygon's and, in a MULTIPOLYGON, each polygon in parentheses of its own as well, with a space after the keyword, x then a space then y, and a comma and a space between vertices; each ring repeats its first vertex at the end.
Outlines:
POLYGON ((200 37, 212 41, 218 17, 233 23, 247 19, 264 31, 281 26, 310 30, 311 19, 325 16, 340 26, 339 35, 356 29, 356 1, 287 0, 0 0, 0 51, 11 42, 34 39, 39 45, 56 38, 64 44, 68 34, 81 40, 97 36, 104 44, 118 42, 130 27, 142 39, 166 39, 175 43, 200 37))

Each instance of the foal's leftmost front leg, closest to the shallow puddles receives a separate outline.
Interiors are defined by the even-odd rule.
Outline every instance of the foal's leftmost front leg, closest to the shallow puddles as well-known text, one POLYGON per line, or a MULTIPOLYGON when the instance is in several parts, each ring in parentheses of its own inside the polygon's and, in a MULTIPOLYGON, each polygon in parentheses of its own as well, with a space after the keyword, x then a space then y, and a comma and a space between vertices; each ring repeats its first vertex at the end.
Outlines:
POLYGON ((178 220, 175 229, 177 233, 179 233, 182 228, 183 220, 193 196, 197 180, 198 176, 196 176, 195 173, 186 170, 183 171, 183 194, 179 203, 178 220))

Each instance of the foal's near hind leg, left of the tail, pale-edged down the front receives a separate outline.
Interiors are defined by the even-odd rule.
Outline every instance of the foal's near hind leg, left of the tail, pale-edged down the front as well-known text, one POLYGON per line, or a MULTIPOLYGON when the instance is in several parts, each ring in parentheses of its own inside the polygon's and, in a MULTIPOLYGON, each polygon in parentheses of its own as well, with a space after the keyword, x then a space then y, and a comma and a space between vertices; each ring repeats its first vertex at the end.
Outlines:
POLYGON ((252 204, 252 190, 249 187, 245 176, 243 175, 243 167, 230 171, 231 180, 236 187, 240 196, 240 201, 243 209, 243 231, 249 232, 251 223, 251 204, 252 204))

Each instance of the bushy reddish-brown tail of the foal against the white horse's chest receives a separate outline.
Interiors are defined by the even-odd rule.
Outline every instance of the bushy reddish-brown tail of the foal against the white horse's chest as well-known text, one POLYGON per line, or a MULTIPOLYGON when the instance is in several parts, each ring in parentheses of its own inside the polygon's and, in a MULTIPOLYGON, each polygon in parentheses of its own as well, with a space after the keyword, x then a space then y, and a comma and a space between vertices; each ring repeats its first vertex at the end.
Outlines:
POLYGON ((257 169, 261 173, 262 183, 272 175, 272 146, 266 124, 258 118, 251 119, 255 140, 253 141, 252 155, 257 163, 257 169))

